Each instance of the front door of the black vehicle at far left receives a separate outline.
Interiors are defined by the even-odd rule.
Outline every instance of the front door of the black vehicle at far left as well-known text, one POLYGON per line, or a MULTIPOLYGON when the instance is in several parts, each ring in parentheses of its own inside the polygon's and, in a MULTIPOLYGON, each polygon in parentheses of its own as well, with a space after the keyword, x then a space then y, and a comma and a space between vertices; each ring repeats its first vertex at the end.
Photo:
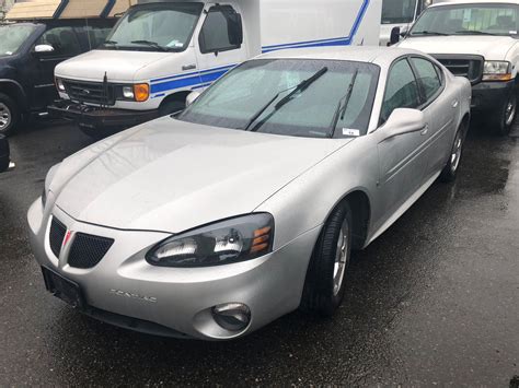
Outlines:
POLYGON ((71 26, 48 27, 36 40, 35 47, 38 45, 53 46, 54 51, 37 54, 38 77, 33 94, 33 106, 35 108, 47 106, 53 99, 57 98, 54 84, 54 69, 56 66, 82 52, 76 32, 71 26))

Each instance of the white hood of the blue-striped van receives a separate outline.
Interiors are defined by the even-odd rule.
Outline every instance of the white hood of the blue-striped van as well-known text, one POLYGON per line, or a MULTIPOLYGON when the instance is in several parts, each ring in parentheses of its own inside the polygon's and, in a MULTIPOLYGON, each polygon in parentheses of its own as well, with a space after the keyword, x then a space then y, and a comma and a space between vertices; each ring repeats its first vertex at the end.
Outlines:
POLYGON ((139 70, 164 59, 169 52, 92 50, 56 67, 56 77, 83 81, 134 82, 139 70))

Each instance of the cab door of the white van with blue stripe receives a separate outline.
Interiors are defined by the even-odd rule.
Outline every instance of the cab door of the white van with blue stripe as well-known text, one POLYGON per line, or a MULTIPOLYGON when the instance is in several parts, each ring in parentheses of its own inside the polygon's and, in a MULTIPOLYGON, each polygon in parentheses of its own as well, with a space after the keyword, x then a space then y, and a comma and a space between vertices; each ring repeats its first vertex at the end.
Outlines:
POLYGON ((229 4, 208 3, 196 38, 196 57, 206 86, 246 60, 241 15, 229 4))

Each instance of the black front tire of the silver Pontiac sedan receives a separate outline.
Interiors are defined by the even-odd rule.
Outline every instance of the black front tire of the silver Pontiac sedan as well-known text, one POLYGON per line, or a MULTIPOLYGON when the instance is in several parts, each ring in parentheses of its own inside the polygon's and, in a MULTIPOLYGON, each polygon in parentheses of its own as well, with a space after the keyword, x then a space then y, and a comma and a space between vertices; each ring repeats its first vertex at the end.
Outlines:
POLYGON ((330 215, 326 221, 310 260, 304 291, 301 301, 301 309, 312 315, 330 317, 343 302, 347 277, 347 269, 351 256, 351 210, 344 201, 330 215), (336 254, 343 226, 347 225, 345 242, 345 267, 342 282, 336 290, 334 271, 336 254))

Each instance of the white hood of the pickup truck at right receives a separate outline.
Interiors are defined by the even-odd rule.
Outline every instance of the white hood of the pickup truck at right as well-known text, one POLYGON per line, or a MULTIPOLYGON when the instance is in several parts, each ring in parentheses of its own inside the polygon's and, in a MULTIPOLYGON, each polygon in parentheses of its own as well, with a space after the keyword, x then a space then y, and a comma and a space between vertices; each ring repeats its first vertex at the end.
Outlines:
POLYGON ((517 40, 509 36, 424 36, 410 37, 397 46, 427 54, 481 55, 487 60, 505 60, 517 40))

